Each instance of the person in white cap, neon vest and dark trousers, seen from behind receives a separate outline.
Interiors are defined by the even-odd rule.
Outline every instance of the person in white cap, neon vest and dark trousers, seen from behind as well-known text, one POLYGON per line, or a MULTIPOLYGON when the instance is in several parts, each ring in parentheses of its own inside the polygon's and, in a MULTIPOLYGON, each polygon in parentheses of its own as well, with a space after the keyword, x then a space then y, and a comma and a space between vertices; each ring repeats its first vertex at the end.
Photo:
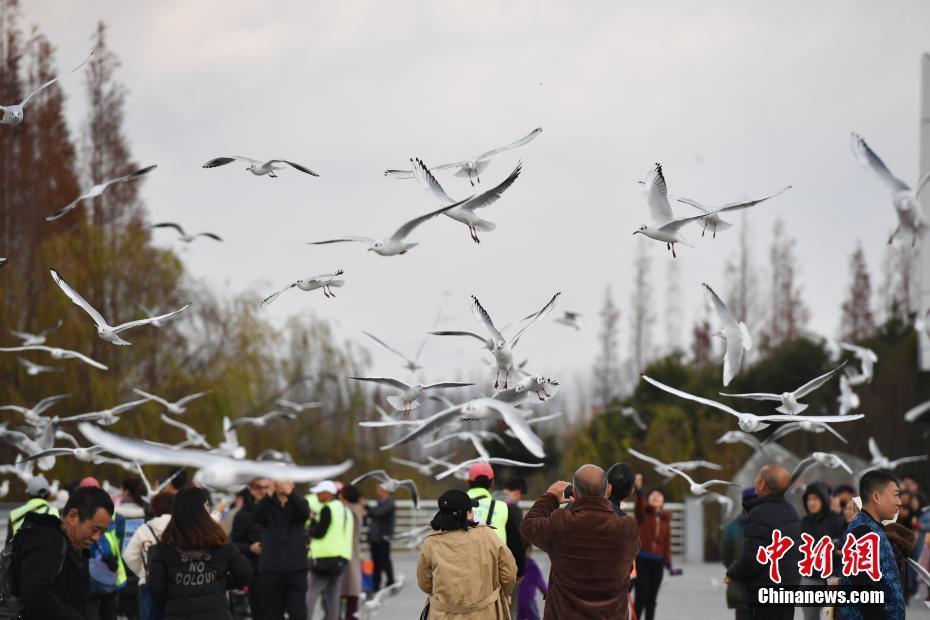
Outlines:
POLYGON ((339 489, 324 480, 312 489, 320 501, 307 534, 310 536, 310 574, 307 577, 307 618, 313 620, 317 599, 322 598, 324 619, 339 619, 342 573, 352 559, 355 519, 337 497, 339 489))

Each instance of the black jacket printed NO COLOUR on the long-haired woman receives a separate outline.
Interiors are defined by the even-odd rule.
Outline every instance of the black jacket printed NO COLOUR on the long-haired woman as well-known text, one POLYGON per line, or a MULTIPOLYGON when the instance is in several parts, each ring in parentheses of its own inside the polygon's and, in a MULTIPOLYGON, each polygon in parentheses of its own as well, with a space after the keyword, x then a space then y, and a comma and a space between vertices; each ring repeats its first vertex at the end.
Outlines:
POLYGON ((241 588, 252 577, 251 563, 232 543, 205 551, 158 544, 148 559, 146 584, 166 619, 232 619, 226 590, 241 588))

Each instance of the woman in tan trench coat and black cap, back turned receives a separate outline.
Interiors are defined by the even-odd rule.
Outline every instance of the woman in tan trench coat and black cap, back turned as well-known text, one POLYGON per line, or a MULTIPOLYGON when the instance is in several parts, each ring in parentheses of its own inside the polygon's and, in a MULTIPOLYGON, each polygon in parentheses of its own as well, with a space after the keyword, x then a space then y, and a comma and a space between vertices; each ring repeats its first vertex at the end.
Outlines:
POLYGON ((436 530, 423 541, 417 583, 429 595, 430 620, 509 620, 517 564, 492 528, 474 524, 478 505, 465 491, 439 497, 436 530))

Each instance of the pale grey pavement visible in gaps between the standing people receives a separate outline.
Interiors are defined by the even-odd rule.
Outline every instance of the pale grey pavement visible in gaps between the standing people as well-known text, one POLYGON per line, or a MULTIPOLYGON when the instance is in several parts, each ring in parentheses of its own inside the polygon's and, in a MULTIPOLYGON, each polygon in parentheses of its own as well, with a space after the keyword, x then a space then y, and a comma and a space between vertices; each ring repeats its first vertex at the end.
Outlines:
MULTIPOLYGON (((549 565, 545 554, 536 552, 534 559, 539 562, 543 574, 548 576, 549 565)), ((416 555, 397 553, 394 555, 395 572, 404 574, 407 585, 396 597, 389 599, 381 611, 374 617, 379 620, 410 620, 416 618, 426 601, 426 595, 420 592, 416 584, 416 555)), ((700 617, 701 620, 732 620, 733 613, 726 608, 724 586, 720 583, 723 567, 719 564, 681 565, 684 574, 669 577, 662 581, 659 592, 659 604, 656 613, 662 620, 700 617), (698 612, 698 613, 696 613, 698 612)), ((925 590, 921 588, 920 594, 925 590)), ((542 605, 540 604, 540 610, 542 605)), ((317 614, 319 617, 319 613, 317 614)), ((801 613, 795 612, 800 620, 801 613)), ((908 620, 930 620, 930 610, 920 606, 916 598, 911 599, 907 610, 908 620)))

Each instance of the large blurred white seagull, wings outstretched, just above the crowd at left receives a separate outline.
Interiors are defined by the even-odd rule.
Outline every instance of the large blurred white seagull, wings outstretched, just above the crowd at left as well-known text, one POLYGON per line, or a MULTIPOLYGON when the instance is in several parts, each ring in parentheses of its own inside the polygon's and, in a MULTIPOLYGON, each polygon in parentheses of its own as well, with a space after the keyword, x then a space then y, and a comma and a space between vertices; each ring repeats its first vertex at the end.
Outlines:
POLYGON ((274 461, 250 461, 230 458, 191 448, 165 448, 147 444, 138 439, 109 433, 93 424, 82 423, 78 429, 84 437, 107 452, 128 461, 146 465, 175 465, 197 469, 194 481, 219 489, 241 487, 256 478, 271 480, 293 480, 294 482, 316 482, 338 478, 352 467, 346 460, 338 465, 295 466, 274 461))

